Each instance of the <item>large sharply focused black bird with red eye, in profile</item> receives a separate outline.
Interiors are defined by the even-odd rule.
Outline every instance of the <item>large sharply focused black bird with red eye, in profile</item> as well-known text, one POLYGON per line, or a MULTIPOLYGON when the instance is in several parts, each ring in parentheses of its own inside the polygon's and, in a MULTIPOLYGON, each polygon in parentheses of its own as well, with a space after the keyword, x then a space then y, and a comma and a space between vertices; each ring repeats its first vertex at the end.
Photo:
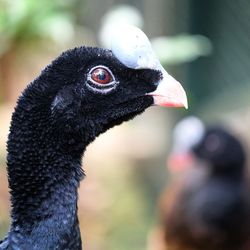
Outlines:
POLYGON ((12 220, 1 250, 82 249, 77 188, 87 145, 151 105, 186 105, 181 85, 147 57, 144 33, 131 27, 127 37, 133 48, 115 37, 112 50, 64 52, 18 99, 7 147, 12 220))

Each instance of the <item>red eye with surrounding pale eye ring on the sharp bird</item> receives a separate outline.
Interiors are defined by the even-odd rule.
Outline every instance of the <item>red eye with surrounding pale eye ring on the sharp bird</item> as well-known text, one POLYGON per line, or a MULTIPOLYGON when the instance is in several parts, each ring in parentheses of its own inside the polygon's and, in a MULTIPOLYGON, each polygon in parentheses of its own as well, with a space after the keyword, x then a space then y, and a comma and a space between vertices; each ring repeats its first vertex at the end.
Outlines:
POLYGON ((104 65, 91 68, 87 75, 87 87, 94 92, 106 94, 113 90, 118 83, 112 71, 104 65))

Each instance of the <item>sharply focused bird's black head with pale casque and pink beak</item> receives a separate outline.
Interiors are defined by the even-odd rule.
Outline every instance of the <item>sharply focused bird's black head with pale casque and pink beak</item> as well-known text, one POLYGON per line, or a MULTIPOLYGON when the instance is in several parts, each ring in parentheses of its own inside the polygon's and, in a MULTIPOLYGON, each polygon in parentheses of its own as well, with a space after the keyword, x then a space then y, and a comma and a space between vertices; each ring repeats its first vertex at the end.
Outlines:
POLYGON ((64 52, 31 87, 29 100, 34 92, 36 103, 46 98, 60 132, 79 136, 81 131, 88 140, 151 105, 187 107, 182 86, 135 27, 113 34, 111 50, 80 47, 64 52))

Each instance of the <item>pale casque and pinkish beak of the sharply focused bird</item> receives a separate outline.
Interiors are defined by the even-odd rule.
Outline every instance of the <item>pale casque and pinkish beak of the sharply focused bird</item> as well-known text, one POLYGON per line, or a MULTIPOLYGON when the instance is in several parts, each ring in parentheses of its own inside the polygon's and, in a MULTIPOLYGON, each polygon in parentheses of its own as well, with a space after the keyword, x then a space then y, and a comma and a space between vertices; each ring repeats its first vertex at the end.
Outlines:
POLYGON ((163 68, 148 37, 142 30, 130 25, 123 25, 114 30, 111 49, 115 57, 128 68, 161 71, 162 79, 155 83, 157 89, 148 93, 148 95, 153 96, 154 105, 188 107, 183 87, 163 68))

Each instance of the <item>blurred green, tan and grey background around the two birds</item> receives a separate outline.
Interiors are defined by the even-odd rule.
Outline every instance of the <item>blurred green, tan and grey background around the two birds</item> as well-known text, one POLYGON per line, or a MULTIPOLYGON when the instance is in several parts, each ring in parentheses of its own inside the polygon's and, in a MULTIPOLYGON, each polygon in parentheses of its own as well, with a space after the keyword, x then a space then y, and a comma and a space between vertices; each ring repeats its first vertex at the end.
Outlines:
POLYGON ((63 50, 107 46, 112 25, 141 27, 183 83, 189 110, 152 108, 87 150, 79 214, 86 250, 142 250, 168 179, 171 129, 184 115, 249 139, 248 0, 0 0, 0 238, 9 225, 6 140, 17 97, 63 50))

